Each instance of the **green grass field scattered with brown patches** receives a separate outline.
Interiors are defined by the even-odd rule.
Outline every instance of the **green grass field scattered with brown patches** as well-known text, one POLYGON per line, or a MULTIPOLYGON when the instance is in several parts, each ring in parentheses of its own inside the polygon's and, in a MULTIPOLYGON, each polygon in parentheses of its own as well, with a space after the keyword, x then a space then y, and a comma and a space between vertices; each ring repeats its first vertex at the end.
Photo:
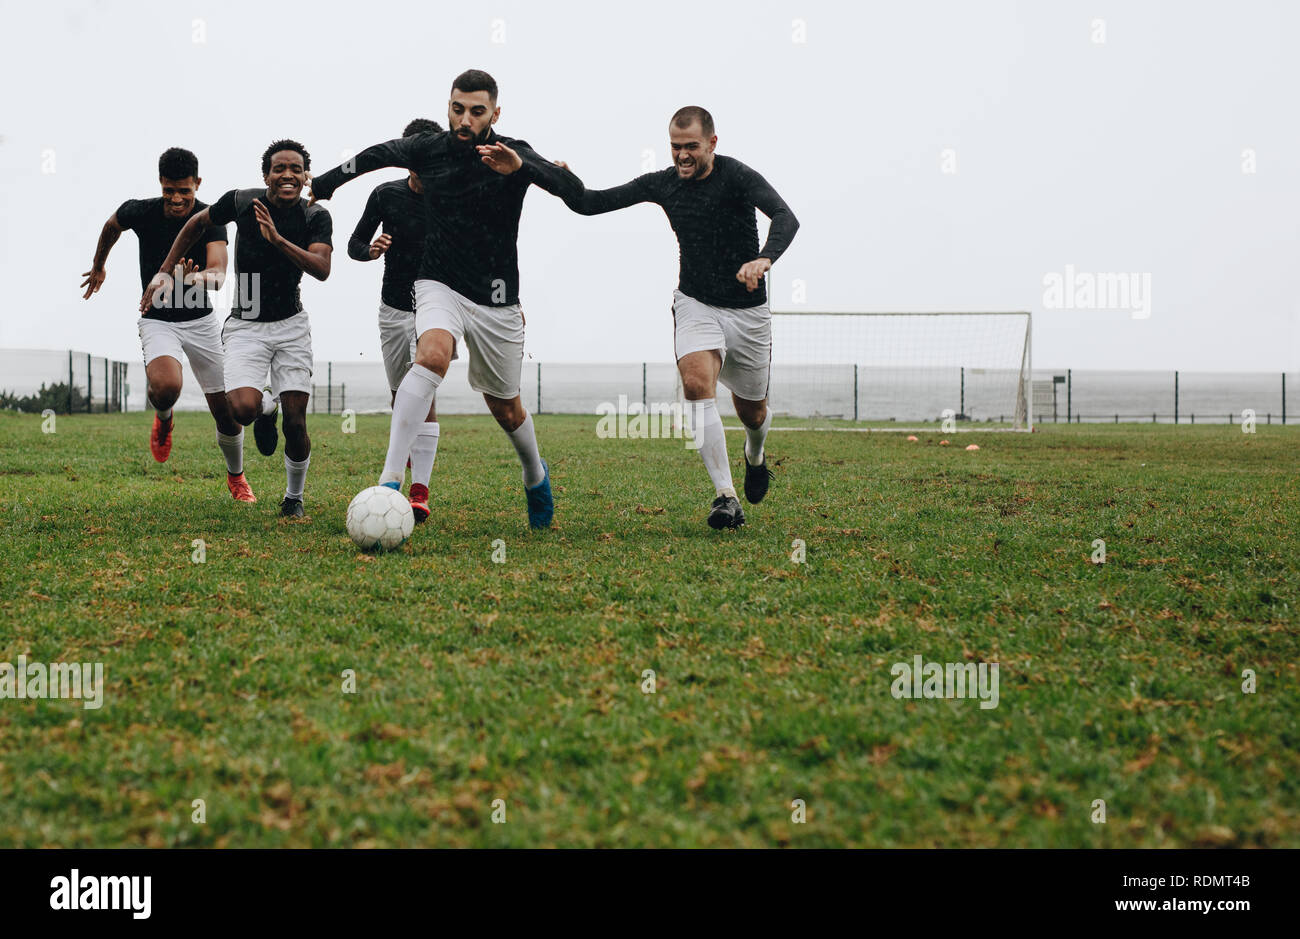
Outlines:
POLYGON ((0 661, 105 680, 0 700, 0 847, 1300 847, 1297 429, 777 432, 732 535, 680 442, 542 415, 530 533, 445 417, 433 519, 367 557, 386 417, 311 419, 303 522, 251 433, 243 506, 205 415, 165 466, 148 421, 0 415, 0 661), (998 706, 894 698, 918 654, 998 706))

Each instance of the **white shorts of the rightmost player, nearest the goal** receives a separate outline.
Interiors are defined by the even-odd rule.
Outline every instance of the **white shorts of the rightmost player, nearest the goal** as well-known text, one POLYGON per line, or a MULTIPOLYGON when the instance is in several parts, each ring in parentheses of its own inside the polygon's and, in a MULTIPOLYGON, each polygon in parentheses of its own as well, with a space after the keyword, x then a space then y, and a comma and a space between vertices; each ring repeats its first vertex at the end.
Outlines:
POLYGON ((672 291, 673 350, 677 359, 716 349, 718 380, 745 401, 763 401, 772 371, 772 312, 757 307, 711 307, 672 291))

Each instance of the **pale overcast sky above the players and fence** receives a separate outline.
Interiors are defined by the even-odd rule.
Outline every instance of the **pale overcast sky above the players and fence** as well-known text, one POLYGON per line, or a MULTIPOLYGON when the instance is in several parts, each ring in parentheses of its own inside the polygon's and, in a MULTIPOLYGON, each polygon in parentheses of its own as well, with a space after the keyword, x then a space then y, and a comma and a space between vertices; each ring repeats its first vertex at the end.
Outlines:
MULTIPOLYGON (((595 189, 668 165, 668 117, 708 108, 718 151, 802 224, 772 271, 777 310, 802 281, 803 310, 1032 310, 1041 368, 1300 367, 1300 66, 1283 48, 1300 5, 618 9, 6 0, 0 347, 138 359, 134 235, 98 297, 78 284, 113 209, 159 194, 166 147, 199 155, 214 202, 261 185, 272 139, 300 139, 322 172, 412 117, 446 124, 451 78, 481 68, 500 86, 498 130, 595 189), (1067 265, 1149 276, 1149 316, 1045 308, 1044 278, 1067 265)), ((333 273, 303 282, 317 359, 378 360, 381 269, 346 239, 370 189, 400 176, 326 203, 333 273)), ((534 187, 519 238, 529 352, 671 362, 676 251, 658 207, 584 218, 534 187)))

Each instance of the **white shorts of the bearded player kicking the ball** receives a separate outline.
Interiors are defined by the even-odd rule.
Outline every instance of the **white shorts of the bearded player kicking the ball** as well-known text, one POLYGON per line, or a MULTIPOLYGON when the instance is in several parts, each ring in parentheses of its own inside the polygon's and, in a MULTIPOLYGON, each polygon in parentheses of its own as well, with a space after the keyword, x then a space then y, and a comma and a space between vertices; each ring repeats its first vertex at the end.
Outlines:
MULTIPOLYGON (((493 398, 519 394, 524 368, 524 311, 517 303, 489 307, 462 297, 446 284, 415 282, 415 332, 446 329, 469 352, 469 388, 493 398)), ((459 358, 452 349, 451 358, 459 358)))

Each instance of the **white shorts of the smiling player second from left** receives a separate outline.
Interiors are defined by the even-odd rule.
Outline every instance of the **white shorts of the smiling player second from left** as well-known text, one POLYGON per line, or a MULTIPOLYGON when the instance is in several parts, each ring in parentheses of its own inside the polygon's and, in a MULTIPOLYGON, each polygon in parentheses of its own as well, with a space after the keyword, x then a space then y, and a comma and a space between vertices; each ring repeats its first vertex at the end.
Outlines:
POLYGON ((226 347, 226 390, 261 388, 270 375, 270 393, 312 393, 312 324, 307 313, 287 320, 240 320, 221 329, 226 347))

